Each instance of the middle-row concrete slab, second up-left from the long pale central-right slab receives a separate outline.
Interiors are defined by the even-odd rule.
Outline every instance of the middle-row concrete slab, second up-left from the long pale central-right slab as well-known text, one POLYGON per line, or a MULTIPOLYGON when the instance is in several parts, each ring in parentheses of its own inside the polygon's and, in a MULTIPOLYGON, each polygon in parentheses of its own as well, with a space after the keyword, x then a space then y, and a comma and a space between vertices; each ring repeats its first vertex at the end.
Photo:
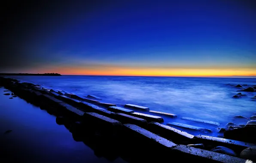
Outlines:
POLYGON ((109 110, 100 108, 96 105, 86 103, 86 102, 83 102, 83 101, 80 101, 80 107, 81 107, 81 109, 84 109, 85 112, 95 112, 95 113, 104 115, 104 116, 109 117, 109 118, 112 118, 115 115, 114 112, 111 112, 109 110))

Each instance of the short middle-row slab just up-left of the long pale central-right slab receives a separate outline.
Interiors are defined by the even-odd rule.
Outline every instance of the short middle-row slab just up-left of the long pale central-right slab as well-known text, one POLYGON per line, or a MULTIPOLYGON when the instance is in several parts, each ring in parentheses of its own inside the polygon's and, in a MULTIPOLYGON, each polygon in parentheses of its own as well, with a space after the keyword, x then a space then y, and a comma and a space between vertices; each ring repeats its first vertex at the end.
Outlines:
POLYGON ((126 115, 123 113, 116 113, 114 119, 120 121, 122 124, 135 124, 140 127, 146 127, 147 121, 145 119, 137 118, 131 115, 126 115))

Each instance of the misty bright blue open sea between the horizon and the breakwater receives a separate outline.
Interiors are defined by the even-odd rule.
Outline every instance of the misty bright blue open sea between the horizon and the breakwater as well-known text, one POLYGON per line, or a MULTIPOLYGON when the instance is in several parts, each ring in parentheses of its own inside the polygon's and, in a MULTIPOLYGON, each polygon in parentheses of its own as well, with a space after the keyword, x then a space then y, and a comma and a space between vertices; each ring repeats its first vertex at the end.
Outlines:
MULTIPOLYGON (((219 122, 222 126, 235 115, 250 118, 256 113, 256 101, 251 97, 233 99, 239 88, 234 85, 256 85, 256 78, 189 78, 189 77, 129 77, 129 76, 13 76, 46 88, 55 88, 87 96, 93 94, 104 102, 147 106, 150 110, 173 113, 181 117, 219 122)), ((183 122, 183 121, 180 121, 183 122)), ((192 122, 186 121, 186 124, 192 122)), ((246 122, 239 122, 244 124, 246 122)), ((198 124, 197 126, 200 126, 198 124)))

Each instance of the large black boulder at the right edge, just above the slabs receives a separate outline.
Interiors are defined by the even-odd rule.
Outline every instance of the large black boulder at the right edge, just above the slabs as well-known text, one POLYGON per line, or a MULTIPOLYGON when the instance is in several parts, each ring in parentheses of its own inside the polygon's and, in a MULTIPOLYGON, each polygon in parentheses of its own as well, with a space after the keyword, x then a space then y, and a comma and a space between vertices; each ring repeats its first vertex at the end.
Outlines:
POLYGON ((242 127, 224 132, 225 139, 238 140, 242 142, 256 142, 256 127, 242 127))

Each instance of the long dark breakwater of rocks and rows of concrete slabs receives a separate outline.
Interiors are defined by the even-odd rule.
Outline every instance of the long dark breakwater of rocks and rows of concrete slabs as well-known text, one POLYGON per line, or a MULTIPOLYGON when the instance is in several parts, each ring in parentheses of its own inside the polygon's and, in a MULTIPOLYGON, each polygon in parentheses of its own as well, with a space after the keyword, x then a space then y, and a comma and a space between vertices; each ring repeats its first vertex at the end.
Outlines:
MULTIPOLYGON (((101 103, 100 98, 93 96, 80 97, 61 90, 48 90, 30 83, 20 83, 9 78, 1 78, 0 81, 1 85, 18 97, 56 115, 57 123, 66 125, 77 139, 96 135, 104 138, 109 146, 117 143, 125 147, 126 151, 122 153, 124 155, 128 153, 129 156, 126 157, 133 158, 131 162, 145 160, 146 158, 142 157, 144 154, 147 159, 157 161, 166 158, 170 160, 171 157, 172 161, 245 162, 244 159, 239 158, 240 153, 246 148, 255 146, 253 142, 194 136, 182 132, 161 124, 163 118, 159 115, 150 115, 150 110, 146 107, 132 104, 118 107, 116 104, 101 103), (226 151, 229 155, 215 152, 218 151, 217 149, 211 151, 219 146, 228 148, 235 154, 228 150, 226 151)), ((247 128, 251 127, 247 126, 247 128)), ((225 151, 225 148, 222 148, 222 151, 225 151)))

